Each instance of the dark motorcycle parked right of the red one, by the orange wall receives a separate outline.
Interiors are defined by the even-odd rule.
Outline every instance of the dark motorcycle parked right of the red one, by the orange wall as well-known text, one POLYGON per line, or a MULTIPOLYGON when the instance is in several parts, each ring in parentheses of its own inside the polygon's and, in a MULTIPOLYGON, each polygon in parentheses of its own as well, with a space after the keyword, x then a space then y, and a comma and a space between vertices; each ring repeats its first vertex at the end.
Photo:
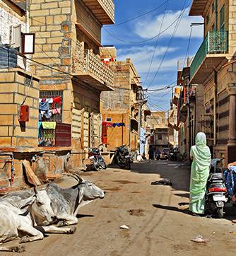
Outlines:
POLYGON ((130 164, 133 163, 131 161, 131 154, 129 153, 129 149, 125 145, 118 146, 115 148, 116 151, 114 153, 114 159, 121 168, 127 168, 130 170, 130 164))

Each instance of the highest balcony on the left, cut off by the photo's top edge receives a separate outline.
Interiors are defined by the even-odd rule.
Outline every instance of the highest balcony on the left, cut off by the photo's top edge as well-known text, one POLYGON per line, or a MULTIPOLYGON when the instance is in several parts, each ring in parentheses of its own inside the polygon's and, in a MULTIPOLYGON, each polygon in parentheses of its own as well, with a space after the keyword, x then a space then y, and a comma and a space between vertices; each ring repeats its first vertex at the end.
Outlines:
POLYGON ((114 3, 112 0, 83 0, 102 25, 114 24, 114 3))

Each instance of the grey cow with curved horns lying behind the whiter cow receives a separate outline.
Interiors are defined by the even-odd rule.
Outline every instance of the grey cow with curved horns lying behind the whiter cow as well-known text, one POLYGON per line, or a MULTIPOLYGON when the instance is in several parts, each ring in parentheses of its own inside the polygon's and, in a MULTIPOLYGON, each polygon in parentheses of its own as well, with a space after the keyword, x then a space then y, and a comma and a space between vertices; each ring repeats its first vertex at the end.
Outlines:
MULTIPOLYGON (((75 173, 69 173, 67 175, 75 178, 78 183, 73 187, 68 188, 61 188, 54 183, 49 183, 49 185, 47 185, 47 194, 52 201, 52 210, 57 216, 57 221, 59 220, 57 227, 77 224, 78 219, 76 218, 76 215, 78 214, 78 209, 85 204, 92 202, 96 198, 102 199, 105 197, 105 192, 90 181, 83 180, 83 178, 75 173)), ((32 193, 32 190, 26 190, 15 192, 4 197, 12 197, 15 194, 21 199, 25 199, 26 197, 30 197, 32 193)), ((47 226, 49 223, 50 222, 45 219, 45 221, 42 222, 42 226, 47 226)))

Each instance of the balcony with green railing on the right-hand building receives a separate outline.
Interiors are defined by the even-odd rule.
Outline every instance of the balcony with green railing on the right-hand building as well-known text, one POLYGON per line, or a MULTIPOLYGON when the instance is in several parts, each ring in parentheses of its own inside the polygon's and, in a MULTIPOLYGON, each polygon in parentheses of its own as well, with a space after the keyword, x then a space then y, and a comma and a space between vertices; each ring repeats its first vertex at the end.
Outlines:
POLYGON ((209 31, 190 66, 190 83, 201 84, 226 62, 228 31, 209 31))

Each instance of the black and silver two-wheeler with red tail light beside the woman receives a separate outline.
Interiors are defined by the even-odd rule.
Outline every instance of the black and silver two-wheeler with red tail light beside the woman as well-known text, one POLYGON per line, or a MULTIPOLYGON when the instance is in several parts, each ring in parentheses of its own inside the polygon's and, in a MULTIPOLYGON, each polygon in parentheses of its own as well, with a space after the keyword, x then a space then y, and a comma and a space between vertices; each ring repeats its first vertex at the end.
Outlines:
POLYGON ((225 175, 217 167, 224 158, 214 158, 211 160, 210 174, 206 185, 206 209, 211 214, 218 214, 223 218, 224 203, 228 202, 228 192, 225 186, 225 175))

